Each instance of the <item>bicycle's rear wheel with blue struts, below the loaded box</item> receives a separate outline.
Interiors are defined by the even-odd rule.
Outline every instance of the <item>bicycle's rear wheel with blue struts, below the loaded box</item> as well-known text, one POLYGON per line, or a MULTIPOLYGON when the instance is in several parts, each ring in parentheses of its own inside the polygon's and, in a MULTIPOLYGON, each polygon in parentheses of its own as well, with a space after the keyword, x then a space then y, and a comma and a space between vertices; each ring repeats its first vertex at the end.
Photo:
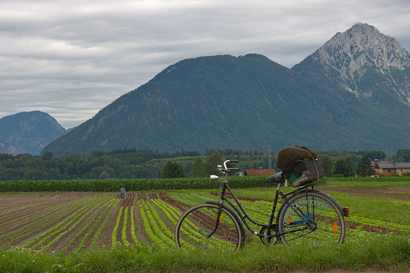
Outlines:
POLYGON ((284 203, 278 217, 285 245, 329 246, 342 244, 346 233, 343 212, 327 193, 307 189, 284 203))

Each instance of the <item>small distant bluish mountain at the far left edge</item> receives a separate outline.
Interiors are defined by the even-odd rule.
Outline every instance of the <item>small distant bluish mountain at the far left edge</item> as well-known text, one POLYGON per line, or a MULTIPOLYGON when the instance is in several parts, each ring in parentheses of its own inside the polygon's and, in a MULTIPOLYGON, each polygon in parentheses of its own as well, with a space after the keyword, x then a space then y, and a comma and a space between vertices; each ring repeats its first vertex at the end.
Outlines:
POLYGON ((39 155, 50 141, 66 130, 49 114, 21 112, 0 119, 0 152, 39 155))

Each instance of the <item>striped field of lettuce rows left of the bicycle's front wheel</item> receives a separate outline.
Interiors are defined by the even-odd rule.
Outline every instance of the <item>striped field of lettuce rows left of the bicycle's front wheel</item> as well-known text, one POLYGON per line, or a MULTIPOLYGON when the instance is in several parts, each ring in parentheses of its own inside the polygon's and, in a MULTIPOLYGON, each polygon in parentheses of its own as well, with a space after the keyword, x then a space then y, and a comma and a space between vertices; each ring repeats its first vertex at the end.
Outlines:
MULTIPOLYGON (((214 199, 212 193, 127 193, 125 200, 117 193, 2 194, 0 246, 53 254, 115 244, 173 248, 173 230, 181 212, 214 199)), ((262 203, 269 207, 269 202, 262 203)))

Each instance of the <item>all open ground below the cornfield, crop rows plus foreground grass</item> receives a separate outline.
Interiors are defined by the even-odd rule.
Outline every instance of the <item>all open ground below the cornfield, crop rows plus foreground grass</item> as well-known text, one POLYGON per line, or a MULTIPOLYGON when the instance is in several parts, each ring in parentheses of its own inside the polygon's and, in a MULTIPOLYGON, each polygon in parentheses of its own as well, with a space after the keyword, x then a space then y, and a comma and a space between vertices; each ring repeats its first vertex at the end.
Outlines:
MULTIPOLYGON (((232 187, 251 217, 266 223, 274 188, 232 187)), ((175 251, 173 239, 181 213, 216 200, 216 189, 134 191, 125 200, 118 192, 2 193, 0 271, 409 271, 410 181, 328 180, 315 189, 350 208, 342 246, 266 248, 247 232, 241 251, 222 256, 175 251)))

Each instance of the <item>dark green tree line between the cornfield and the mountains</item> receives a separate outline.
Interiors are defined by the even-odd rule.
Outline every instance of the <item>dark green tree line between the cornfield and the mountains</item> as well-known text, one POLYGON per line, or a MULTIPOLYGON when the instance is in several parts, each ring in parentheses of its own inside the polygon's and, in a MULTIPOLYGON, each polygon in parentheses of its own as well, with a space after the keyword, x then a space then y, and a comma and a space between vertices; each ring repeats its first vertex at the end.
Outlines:
MULTIPOLYGON (((360 163, 364 155, 368 165, 374 159, 387 160, 379 150, 321 151, 323 167, 327 176, 362 175, 360 163), (360 167, 360 168, 359 168, 360 167)), ((276 155, 271 152, 272 168, 276 168, 276 155)), ((393 156, 396 162, 409 162, 410 149, 398 150, 393 156)), ((216 172, 216 165, 225 159, 237 159, 237 172, 246 169, 268 168, 269 154, 249 147, 239 149, 206 148, 205 154, 198 151, 158 152, 147 149, 123 148, 110 152, 93 150, 89 154, 65 155, 54 158, 52 152, 43 155, 0 154, 0 180, 71 180, 102 178, 159 178, 170 177, 178 170, 185 177, 203 177, 216 172), (166 167, 166 168, 165 168, 166 167)), ((364 160, 364 159, 363 159, 364 160)), ((233 165, 232 165, 233 166, 233 165)), ((175 174, 174 174, 175 175, 175 174)))

